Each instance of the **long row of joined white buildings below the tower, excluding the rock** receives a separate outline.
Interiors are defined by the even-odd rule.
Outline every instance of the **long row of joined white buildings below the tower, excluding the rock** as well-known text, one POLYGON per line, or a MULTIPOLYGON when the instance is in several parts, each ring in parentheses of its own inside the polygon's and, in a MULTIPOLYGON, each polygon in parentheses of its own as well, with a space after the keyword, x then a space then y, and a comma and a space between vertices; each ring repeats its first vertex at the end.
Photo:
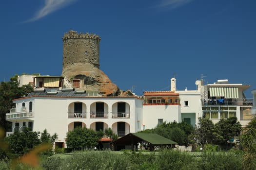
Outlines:
POLYGON ((62 76, 35 76, 36 89, 27 97, 13 100, 16 107, 6 114, 12 132, 24 126, 33 131, 58 134, 59 146, 65 146, 68 131, 81 126, 93 130, 111 128, 118 136, 155 128, 166 122, 181 122, 195 126, 199 117, 220 119, 237 117, 245 126, 252 117, 252 103, 243 97, 249 85, 221 82, 203 85, 197 90, 176 90, 171 79, 170 91, 145 91, 143 98, 102 97, 98 92, 62 88, 62 76))

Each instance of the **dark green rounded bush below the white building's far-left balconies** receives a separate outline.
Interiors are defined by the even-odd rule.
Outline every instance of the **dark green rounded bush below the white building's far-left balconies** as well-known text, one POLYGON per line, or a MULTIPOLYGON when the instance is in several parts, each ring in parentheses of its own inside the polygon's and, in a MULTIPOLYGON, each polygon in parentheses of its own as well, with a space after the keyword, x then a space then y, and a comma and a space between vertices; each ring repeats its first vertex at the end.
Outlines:
POLYGON ((41 143, 39 132, 32 132, 27 127, 22 132, 15 131, 13 135, 6 137, 6 141, 9 145, 10 153, 15 156, 28 153, 41 143))

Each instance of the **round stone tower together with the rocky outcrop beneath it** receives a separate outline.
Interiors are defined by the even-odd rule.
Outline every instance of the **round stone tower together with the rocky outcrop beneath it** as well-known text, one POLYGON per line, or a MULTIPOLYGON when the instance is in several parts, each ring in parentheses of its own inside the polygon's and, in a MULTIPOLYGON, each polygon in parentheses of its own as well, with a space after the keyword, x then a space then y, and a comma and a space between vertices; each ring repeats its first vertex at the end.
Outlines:
POLYGON ((130 96, 113 84, 99 69, 99 42, 96 34, 82 34, 75 31, 65 33, 63 40, 62 76, 64 86, 79 90, 98 91, 102 96, 130 96))

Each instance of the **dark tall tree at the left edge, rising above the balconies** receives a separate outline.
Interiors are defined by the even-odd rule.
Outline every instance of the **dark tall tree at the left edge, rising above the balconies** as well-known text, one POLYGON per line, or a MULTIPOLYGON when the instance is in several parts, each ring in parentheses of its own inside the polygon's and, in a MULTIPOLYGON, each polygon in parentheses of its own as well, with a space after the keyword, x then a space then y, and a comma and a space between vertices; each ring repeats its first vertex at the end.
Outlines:
POLYGON ((11 123, 5 120, 5 114, 10 112, 14 106, 12 100, 26 96, 33 90, 31 85, 19 87, 17 82, 18 75, 11 77, 10 82, 1 82, 0 84, 0 126, 5 131, 11 131, 11 123))

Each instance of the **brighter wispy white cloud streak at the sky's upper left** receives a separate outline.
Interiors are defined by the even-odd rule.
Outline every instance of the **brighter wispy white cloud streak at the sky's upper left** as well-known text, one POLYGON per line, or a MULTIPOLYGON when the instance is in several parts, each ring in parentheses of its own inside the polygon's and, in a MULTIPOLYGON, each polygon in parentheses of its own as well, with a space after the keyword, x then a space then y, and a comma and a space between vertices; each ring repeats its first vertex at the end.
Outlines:
POLYGON ((76 0, 45 0, 44 6, 36 13, 36 15, 31 19, 26 20, 25 22, 36 21, 42 17, 53 13, 54 11, 59 10, 60 8, 63 8, 73 3, 74 1, 76 0))

